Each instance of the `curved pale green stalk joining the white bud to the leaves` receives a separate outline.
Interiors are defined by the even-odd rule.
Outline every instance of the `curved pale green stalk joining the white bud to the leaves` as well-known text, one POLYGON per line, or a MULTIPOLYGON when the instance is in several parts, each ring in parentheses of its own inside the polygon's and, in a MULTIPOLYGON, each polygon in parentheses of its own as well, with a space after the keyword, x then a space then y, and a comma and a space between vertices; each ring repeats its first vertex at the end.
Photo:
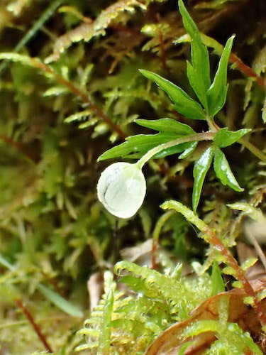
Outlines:
POLYGON ((156 146, 153 149, 150 149, 145 155, 143 155, 140 160, 135 163, 137 168, 142 169, 143 165, 150 160, 150 158, 153 158, 153 155, 160 153, 160 151, 163 151, 164 149, 171 148, 173 146, 177 146, 178 144, 182 143, 187 143, 187 142, 193 142, 193 141, 211 141, 214 138, 215 132, 209 131, 209 132, 203 132, 203 133, 196 133, 193 134, 192 136, 184 136, 181 138, 174 139, 173 141, 169 141, 166 143, 160 144, 160 146, 156 146))

